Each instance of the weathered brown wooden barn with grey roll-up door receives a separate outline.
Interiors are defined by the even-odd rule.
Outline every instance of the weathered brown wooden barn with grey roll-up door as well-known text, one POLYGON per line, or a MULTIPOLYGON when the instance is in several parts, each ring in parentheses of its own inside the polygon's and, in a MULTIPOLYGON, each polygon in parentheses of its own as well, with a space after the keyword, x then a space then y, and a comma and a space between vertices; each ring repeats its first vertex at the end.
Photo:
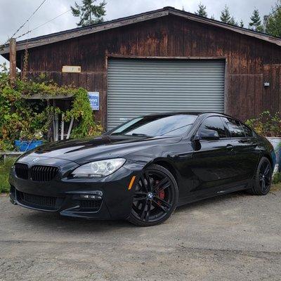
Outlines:
POLYGON ((29 77, 98 92, 107 129, 152 112, 281 111, 281 39, 171 7, 19 41, 19 68, 25 48, 29 77))

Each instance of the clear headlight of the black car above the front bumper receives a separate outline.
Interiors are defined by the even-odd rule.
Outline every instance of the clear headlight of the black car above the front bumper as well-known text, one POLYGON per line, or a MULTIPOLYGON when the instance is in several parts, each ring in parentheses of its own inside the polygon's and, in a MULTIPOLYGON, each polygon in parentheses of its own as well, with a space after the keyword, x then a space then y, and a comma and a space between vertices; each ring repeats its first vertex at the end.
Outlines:
POLYGON ((122 167, 125 162, 126 159, 123 158, 106 159, 91 162, 79 166, 72 172, 72 176, 74 176, 75 178, 100 178, 102 176, 108 176, 122 167))

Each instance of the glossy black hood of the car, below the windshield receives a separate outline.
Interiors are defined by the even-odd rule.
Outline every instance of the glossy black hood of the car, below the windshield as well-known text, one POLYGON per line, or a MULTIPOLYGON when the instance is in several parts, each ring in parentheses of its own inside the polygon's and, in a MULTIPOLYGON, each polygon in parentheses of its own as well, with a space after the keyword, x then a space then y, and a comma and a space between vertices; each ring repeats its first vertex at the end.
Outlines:
POLYGON ((67 141, 58 141, 41 145, 27 155, 32 157, 51 157, 65 159, 78 164, 91 162, 92 160, 122 157, 135 151, 164 145, 164 143, 176 143, 181 137, 137 137, 137 136, 98 136, 96 138, 81 138, 67 141))

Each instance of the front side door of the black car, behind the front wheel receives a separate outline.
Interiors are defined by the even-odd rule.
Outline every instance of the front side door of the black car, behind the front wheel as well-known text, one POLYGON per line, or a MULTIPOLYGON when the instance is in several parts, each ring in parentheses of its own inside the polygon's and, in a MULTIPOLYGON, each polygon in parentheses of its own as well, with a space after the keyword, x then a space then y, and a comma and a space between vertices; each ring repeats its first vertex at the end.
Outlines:
POLYGON ((204 119, 195 136, 200 135, 202 129, 216 131, 219 136, 218 140, 195 138, 196 141, 193 141, 194 151, 188 167, 194 177, 191 191, 202 192, 206 196, 208 192, 218 192, 229 185, 236 173, 233 166, 235 150, 221 117, 204 119))

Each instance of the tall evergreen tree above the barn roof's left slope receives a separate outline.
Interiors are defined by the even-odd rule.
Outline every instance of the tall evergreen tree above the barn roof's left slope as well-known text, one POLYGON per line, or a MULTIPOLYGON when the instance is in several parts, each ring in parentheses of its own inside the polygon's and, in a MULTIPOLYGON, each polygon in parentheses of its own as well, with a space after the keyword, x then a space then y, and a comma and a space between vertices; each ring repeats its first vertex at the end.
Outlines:
POLYGON ((82 4, 78 5, 76 2, 74 7, 70 6, 72 15, 79 17, 80 21, 77 26, 84 27, 87 25, 94 25, 98 22, 103 22, 105 15, 105 0, 98 5, 93 5, 97 0, 82 0, 82 4))

